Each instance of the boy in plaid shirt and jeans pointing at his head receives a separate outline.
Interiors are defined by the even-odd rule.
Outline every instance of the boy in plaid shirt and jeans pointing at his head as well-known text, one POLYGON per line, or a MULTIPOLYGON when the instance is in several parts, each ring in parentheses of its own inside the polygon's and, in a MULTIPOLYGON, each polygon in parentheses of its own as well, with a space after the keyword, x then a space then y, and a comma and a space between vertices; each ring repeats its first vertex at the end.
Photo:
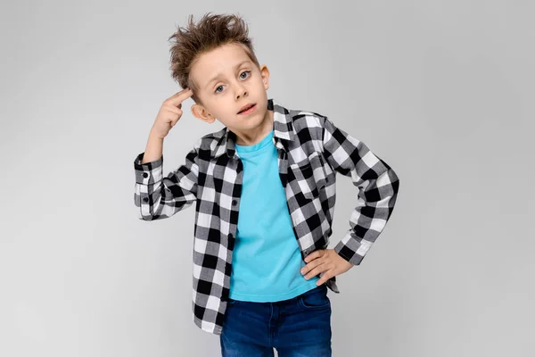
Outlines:
POLYGON ((209 12, 169 38, 177 40, 173 78, 185 89, 162 104, 134 162, 139 218, 169 218, 195 203, 193 321, 220 335, 224 356, 273 356, 273 348, 330 356, 327 287, 340 293, 335 276, 358 265, 383 231, 396 173, 324 115, 268 99, 268 67, 239 17, 209 12), (195 118, 225 128, 163 177, 163 138, 190 96, 195 118), (358 204, 350 229, 327 249, 337 172, 358 187, 358 204))

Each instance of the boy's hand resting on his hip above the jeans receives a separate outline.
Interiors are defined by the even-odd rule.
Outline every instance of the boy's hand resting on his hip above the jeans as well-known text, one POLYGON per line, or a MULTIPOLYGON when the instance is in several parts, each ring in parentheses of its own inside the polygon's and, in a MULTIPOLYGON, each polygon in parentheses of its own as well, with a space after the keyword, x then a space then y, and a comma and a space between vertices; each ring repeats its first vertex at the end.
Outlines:
POLYGON ((306 258, 305 265, 301 270, 301 274, 305 275, 305 278, 316 277, 317 274, 323 272, 324 274, 317 280, 316 285, 320 286, 325 281, 334 276, 345 273, 353 268, 355 265, 343 259, 334 249, 318 249, 310 253, 306 258))

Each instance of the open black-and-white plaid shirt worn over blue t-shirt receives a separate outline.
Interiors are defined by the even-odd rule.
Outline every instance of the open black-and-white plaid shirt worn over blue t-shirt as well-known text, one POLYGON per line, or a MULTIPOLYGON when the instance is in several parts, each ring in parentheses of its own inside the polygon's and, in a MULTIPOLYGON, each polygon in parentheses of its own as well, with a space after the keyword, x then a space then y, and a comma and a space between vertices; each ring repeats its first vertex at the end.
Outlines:
MULTIPOLYGON (((350 229, 333 249, 358 265, 391 217, 399 190, 396 173, 327 117, 288 110, 273 99, 268 109, 274 111, 273 143, 302 258, 329 244, 338 172, 352 179, 358 195, 350 229)), ((215 335, 221 334, 228 301, 242 191, 235 138, 227 128, 202 137, 185 155, 185 164, 167 177, 163 155, 142 164, 141 153, 134 162, 140 220, 169 218, 195 203, 193 322, 215 335)), ((336 277, 325 285, 340 293, 336 277)))

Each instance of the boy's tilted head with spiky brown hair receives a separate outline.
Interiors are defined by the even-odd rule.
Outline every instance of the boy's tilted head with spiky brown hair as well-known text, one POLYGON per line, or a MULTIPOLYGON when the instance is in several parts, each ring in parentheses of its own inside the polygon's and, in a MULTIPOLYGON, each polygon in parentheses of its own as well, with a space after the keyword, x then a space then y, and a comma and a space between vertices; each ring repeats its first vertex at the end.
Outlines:
POLYGON ((176 41, 170 50, 172 77, 192 89, 193 115, 209 123, 218 119, 238 136, 258 128, 272 118, 269 71, 259 65, 246 23, 236 15, 210 12, 196 25, 192 18, 169 39, 176 41), (256 104, 253 112, 238 114, 250 103, 256 104))

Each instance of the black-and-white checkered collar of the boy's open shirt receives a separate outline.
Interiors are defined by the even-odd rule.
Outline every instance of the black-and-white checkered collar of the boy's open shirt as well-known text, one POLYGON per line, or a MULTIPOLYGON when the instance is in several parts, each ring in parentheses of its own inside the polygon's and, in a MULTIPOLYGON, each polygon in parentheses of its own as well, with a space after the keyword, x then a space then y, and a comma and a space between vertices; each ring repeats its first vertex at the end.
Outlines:
MULTIPOLYGON (((275 99, 268 99, 268 110, 273 111, 273 140, 277 148, 288 151, 288 142, 296 135, 292 124, 292 114, 275 99)), ((228 157, 235 156, 236 135, 225 127, 223 135, 211 150, 211 155, 218 158, 226 153, 228 157)))

